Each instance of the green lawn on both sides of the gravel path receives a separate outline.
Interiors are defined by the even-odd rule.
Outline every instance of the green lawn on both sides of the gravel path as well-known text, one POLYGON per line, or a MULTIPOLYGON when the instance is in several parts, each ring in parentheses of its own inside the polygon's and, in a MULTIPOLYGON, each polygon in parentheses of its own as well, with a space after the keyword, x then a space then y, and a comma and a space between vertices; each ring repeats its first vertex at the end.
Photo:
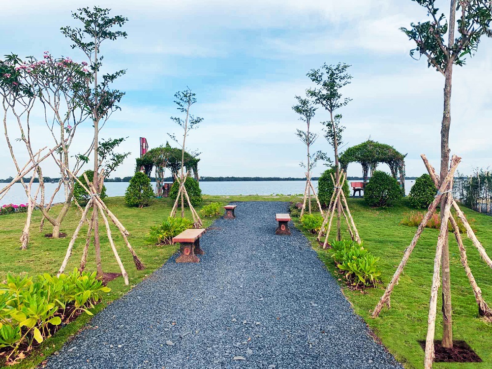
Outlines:
MULTIPOLYGON (((299 198, 288 196, 205 196, 203 205, 213 201, 218 201, 225 205, 229 201, 259 200, 299 201, 299 198)), ((155 225, 169 215, 172 206, 169 199, 156 199, 151 207, 144 209, 127 208, 123 205, 123 198, 121 197, 108 198, 106 203, 131 233, 130 242, 147 269, 144 271, 135 269, 131 256, 115 229, 113 236, 128 272, 130 286, 125 286, 122 278, 110 282, 109 286, 112 288, 112 292, 104 300, 103 304, 96 307, 96 311, 121 297, 133 285, 165 263, 177 250, 175 246, 149 246, 145 243, 145 236, 150 226, 155 225)), ((349 199, 349 206, 365 245, 372 253, 381 258, 382 283, 379 288, 368 289, 365 293, 351 291, 341 284, 343 292, 353 304, 355 311, 366 320, 371 329, 381 338, 383 344, 407 368, 422 368, 424 352, 417 341, 426 337, 427 311, 438 230, 426 229, 424 231, 421 241, 413 251, 409 263, 400 278, 400 284, 395 287, 392 294, 391 309, 384 308, 379 318, 371 319, 369 310, 375 306, 383 293, 386 283, 393 276, 403 255, 403 250, 409 245, 416 228, 399 224, 402 214, 410 211, 406 207, 405 201, 400 206, 383 210, 369 209, 364 205, 362 199, 349 199)), ((492 254, 492 217, 480 215, 467 209, 464 209, 464 212, 469 219, 475 219, 472 227, 477 230, 477 236, 489 250, 489 255, 492 254)), ((72 209, 64 226, 62 226, 62 231, 70 236, 79 216, 78 211, 72 209)), ((45 272, 56 273, 62 262, 68 239, 49 240, 39 234, 39 212, 35 212, 33 215, 30 248, 26 251, 19 250, 18 241, 24 219, 24 214, 0 216, 0 280, 3 280, 8 272, 15 274, 27 273, 28 275, 45 272)), ((211 218, 204 219, 204 226, 209 226, 213 220, 211 218)), ((87 228, 84 226, 81 231, 82 238, 74 247, 72 259, 67 270, 77 267, 80 262, 86 231, 87 228)), ((43 233, 47 232, 50 232, 48 224, 43 233)), ((102 228, 101 238, 104 271, 119 272, 118 265, 102 228)), ((321 260, 325 262, 332 273, 335 273, 335 266, 328 253, 317 246, 313 237, 310 237, 310 239, 321 260)), ((482 358, 483 363, 436 363, 434 368, 492 369, 492 324, 485 323, 478 318, 473 292, 461 267, 454 237, 450 237, 450 240, 454 337, 466 340, 482 358)), ((492 271, 480 259, 478 252, 470 242, 466 240, 465 246, 467 246, 468 261, 472 272, 482 289, 485 300, 491 305, 492 271)), ((89 254, 86 270, 95 269, 93 256, 93 253, 89 254)), ((59 350, 63 342, 83 328, 88 321, 89 318, 87 316, 79 317, 75 322, 65 326, 55 337, 47 339, 34 355, 14 368, 32 368, 39 364, 46 356, 59 350)), ((438 320, 436 338, 439 338, 440 332, 441 321, 438 320)))

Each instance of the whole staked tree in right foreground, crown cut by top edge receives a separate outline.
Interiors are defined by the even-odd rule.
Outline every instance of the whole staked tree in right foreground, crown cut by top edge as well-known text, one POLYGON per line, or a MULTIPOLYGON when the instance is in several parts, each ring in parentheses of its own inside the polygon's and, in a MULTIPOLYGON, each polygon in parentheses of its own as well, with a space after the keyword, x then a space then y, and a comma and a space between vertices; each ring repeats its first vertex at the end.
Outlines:
MULTIPOLYGON (((450 0, 449 23, 443 13, 439 15, 435 0, 412 0, 424 7, 431 18, 427 22, 412 23, 410 29, 401 28, 416 47, 410 56, 425 56, 428 67, 435 68, 444 76, 444 107, 441 122, 441 165, 440 181, 444 181, 449 165, 449 129, 451 125, 451 86, 453 66, 464 65, 466 57, 477 51, 483 35, 492 36, 492 2, 490 0, 450 0), (460 12, 457 19, 457 12, 460 12), (458 30, 458 37, 455 30, 458 30), (447 43, 445 41, 447 33, 447 43)), ((451 188, 447 188, 450 190, 451 188)), ((441 198, 444 209, 450 194, 441 198)), ((441 212, 444 221, 445 212, 441 212)), ((453 330, 451 318, 451 280, 449 273, 449 244, 447 234, 442 249, 442 312, 444 348, 453 347, 453 330)), ((426 368, 431 363, 426 358, 426 368)))

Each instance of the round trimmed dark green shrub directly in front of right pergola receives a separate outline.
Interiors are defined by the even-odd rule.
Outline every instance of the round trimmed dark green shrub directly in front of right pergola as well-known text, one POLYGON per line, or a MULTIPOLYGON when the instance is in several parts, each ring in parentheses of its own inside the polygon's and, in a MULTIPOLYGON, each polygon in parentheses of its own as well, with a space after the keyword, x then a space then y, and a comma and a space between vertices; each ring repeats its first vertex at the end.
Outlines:
POLYGON ((400 185, 389 174, 374 171, 364 188, 364 200, 369 206, 392 206, 402 197, 400 185))

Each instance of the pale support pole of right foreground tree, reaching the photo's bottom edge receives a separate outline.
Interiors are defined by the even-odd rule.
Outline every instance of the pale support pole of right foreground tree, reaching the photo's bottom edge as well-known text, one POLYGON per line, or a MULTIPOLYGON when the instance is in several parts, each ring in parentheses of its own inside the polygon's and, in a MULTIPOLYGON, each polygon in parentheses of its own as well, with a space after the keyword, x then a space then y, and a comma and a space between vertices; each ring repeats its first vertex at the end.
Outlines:
POLYGON ((429 302, 429 318, 427 320, 426 352, 424 359, 425 369, 431 369, 434 361, 435 317, 437 311, 437 293, 441 282, 439 273, 441 270, 442 247, 447 240, 448 220, 451 215, 452 196, 449 193, 445 196, 446 206, 444 208, 444 215, 441 220, 441 229, 439 232, 439 237, 437 238, 437 247, 434 258, 434 273, 432 276, 431 299, 429 302))

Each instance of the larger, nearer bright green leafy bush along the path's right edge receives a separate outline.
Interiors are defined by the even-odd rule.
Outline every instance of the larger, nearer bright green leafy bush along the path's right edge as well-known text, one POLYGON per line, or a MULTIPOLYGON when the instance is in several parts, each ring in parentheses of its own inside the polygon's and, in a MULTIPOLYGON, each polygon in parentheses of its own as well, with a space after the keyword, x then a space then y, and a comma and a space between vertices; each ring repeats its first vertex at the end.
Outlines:
POLYGON ((345 278, 356 287, 376 286, 381 271, 377 266, 379 258, 374 257, 364 245, 355 241, 335 241, 329 250, 335 264, 344 272, 345 278))

